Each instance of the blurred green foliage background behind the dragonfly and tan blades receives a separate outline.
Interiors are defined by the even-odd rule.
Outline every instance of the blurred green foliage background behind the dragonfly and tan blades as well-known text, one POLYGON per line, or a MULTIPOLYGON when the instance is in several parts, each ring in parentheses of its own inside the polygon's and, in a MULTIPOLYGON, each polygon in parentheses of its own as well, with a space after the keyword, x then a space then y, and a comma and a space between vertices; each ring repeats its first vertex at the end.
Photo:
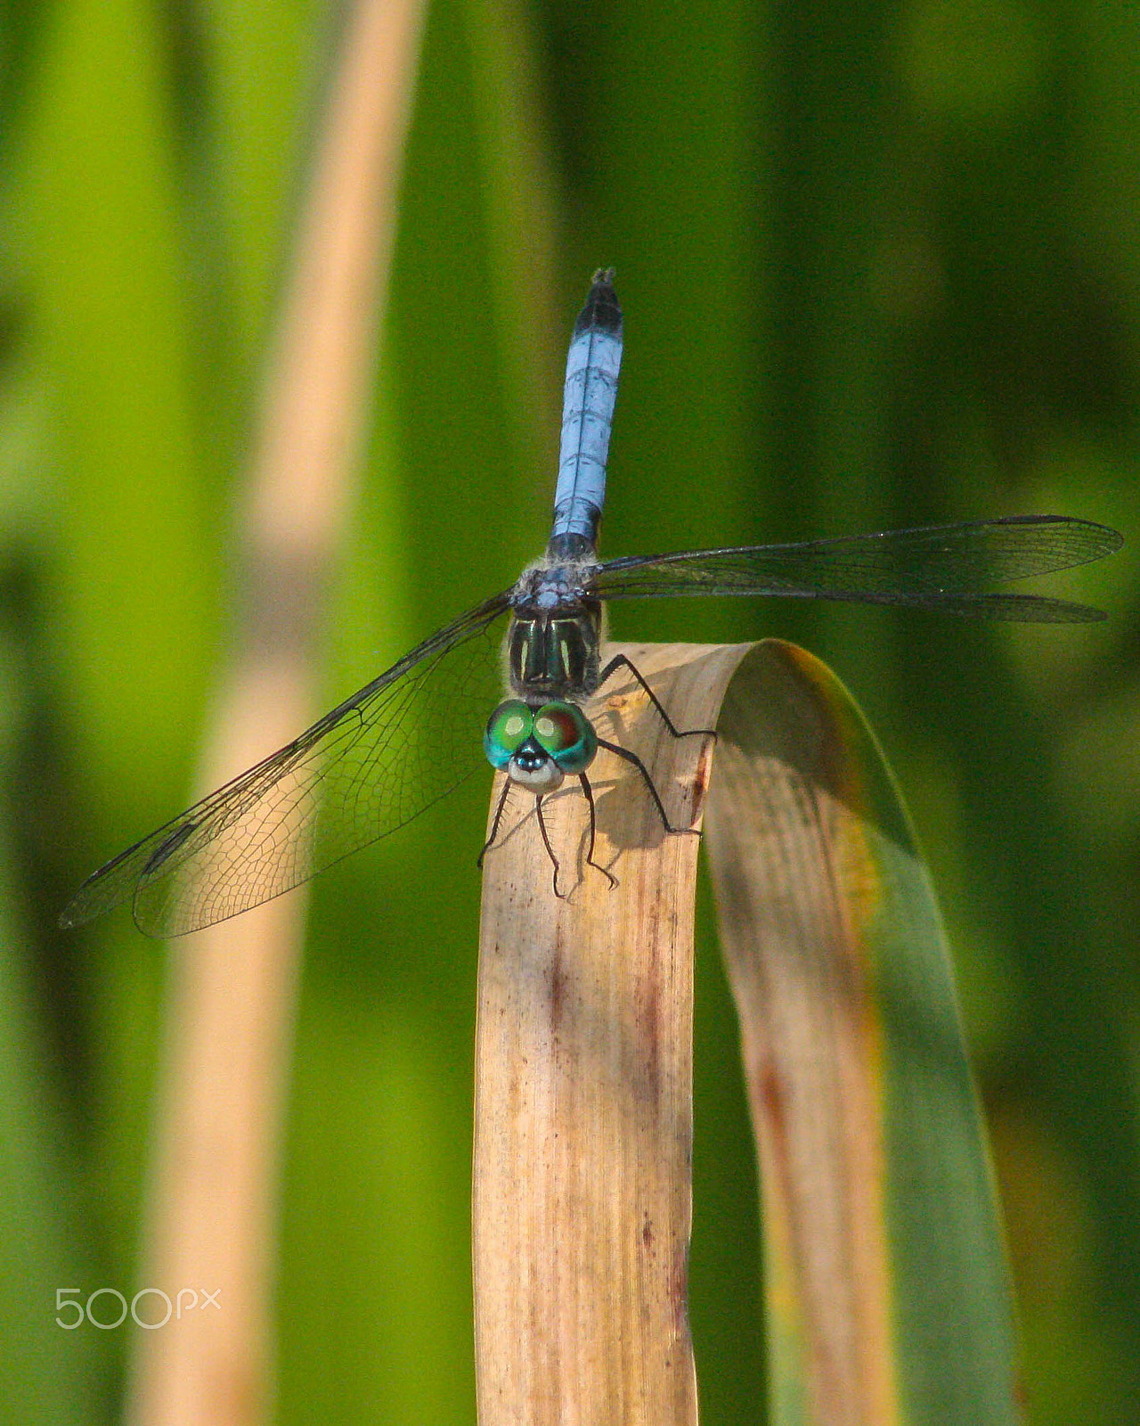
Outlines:
MULTIPOLYGON (((54 1291, 141 1285, 162 957, 125 914, 54 917, 192 793, 336 24, 319 0, 0 10, 3 1420, 118 1410, 127 1332, 63 1332, 54 1291)), ((627 341, 607 553, 1030 512, 1124 530, 1050 585, 1112 612, 1093 627, 613 619, 795 639, 878 730, 949 924, 1039 1426, 1140 1400, 1139 68, 1124 4, 430 6, 322 674, 332 703, 540 549, 601 262, 627 341)), ((316 886, 281 1422, 473 1420, 486 791, 316 886)), ((708 914, 697 1087, 703 1413, 758 1422, 755 1176, 708 914)))

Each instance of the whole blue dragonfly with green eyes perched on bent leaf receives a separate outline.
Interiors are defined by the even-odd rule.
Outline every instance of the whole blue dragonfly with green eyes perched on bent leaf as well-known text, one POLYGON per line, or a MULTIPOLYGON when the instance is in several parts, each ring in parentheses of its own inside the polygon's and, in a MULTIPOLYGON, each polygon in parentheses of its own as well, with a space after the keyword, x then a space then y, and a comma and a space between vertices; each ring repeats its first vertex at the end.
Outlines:
POLYGON ((637 754, 601 739, 584 706, 624 670, 674 736, 707 730, 675 729, 624 655, 603 663, 607 600, 748 595, 1020 623, 1104 617, 1086 605, 992 589, 1102 559, 1123 543, 1104 525, 1059 515, 600 562, 623 348, 613 278, 611 268, 594 275, 570 341, 544 555, 510 589, 430 635, 294 742, 93 873, 60 915, 61 925, 81 925, 128 900, 135 924, 150 935, 180 935, 238 915, 405 827, 486 766, 483 756, 506 777, 480 861, 499 838, 509 794, 522 789, 534 797, 560 896, 543 804, 576 777, 590 814, 586 861, 614 881, 593 860, 589 769, 598 747, 633 764, 670 833, 693 829, 670 823, 637 754))

